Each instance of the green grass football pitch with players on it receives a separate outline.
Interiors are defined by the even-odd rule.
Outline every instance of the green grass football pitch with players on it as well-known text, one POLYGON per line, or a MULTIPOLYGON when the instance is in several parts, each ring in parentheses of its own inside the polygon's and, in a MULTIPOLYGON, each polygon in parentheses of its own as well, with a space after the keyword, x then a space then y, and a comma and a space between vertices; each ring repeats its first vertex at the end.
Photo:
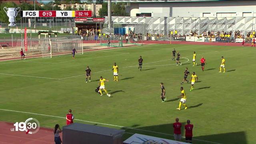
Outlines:
POLYGON ((172 123, 178 117, 182 136, 186 120, 194 124, 194 144, 254 144, 254 61, 255 48, 251 47, 175 44, 85 52, 75 59, 68 54, 4 61, 0 62, 0 121, 22 122, 32 117, 41 126, 53 128, 64 126, 64 117, 72 109, 74 122, 125 129, 123 139, 139 133, 173 140, 172 123), (181 54, 181 66, 171 60, 173 48, 181 54), (194 51, 197 66, 192 66, 194 51), (144 60, 142 71, 138 70, 139 56, 144 60), (226 73, 218 73, 221 56, 226 59, 226 73), (118 82, 113 81, 114 62, 119 67, 118 82), (85 83, 87 66, 92 82, 85 83), (192 91, 190 82, 180 84, 186 67, 188 80, 192 72, 198 76, 192 91), (111 97, 94 91, 100 76, 110 80, 105 87, 111 97), (166 90, 163 103, 160 82, 166 90), (179 111, 181 86, 188 109, 182 106, 179 111))

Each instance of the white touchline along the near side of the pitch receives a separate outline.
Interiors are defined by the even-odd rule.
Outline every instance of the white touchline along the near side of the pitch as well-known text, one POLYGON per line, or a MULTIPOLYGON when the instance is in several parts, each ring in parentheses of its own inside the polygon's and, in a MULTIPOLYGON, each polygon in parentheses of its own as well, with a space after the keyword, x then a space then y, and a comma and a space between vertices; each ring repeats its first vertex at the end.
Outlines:
MULTIPOLYGON (((34 115, 40 115, 40 116, 49 116, 49 117, 54 117, 54 118, 64 118, 64 119, 66 119, 66 117, 51 116, 51 115, 47 115, 47 114, 37 114, 37 113, 32 113, 32 112, 22 112, 22 111, 17 111, 17 110, 6 110, 6 109, 0 109, 0 110, 9 111, 9 112, 20 112, 20 113, 25 113, 25 114, 34 114, 34 115)), ((126 127, 126 126, 118 126, 118 125, 113 125, 113 124, 104 124, 104 123, 101 123, 101 122, 92 122, 92 121, 79 120, 79 119, 74 119, 74 120, 82 121, 82 122, 88 122, 88 123, 93 123, 93 124, 102 124, 102 125, 106 125, 106 126, 114 126, 114 127, 119 127, 119 128, 126 128, 126 129, 131 129, 131 130, 138 130, 138 131, 152 132, 152 133, 156 133, 156 134, 164 134, 164 135, 168 135, 168 136, 173 136, 172 134, 166 134, 166 133, 162 133, 162 132, 154 132, 154 131, 150 131, 150 130, 142 130, 142 129, 138 129, 138 128, 129 128, 129 127, 126 127)), ((202 142, 210 142, 210 141, 199 140, 199 139, 195 139, 195 138, 193 138, 193 140, 198 140, 198 141, 202 141, 202 142)), ((217 143, 217 142, 210 142, 210 143, 220 144, 220 143, 217 143)))

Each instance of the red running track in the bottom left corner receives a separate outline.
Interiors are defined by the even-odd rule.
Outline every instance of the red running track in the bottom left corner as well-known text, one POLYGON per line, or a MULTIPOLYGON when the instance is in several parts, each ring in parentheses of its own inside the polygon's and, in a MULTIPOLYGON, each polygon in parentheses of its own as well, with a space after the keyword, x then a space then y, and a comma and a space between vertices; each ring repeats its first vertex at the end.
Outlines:
MULTIPOLYGON (((13 123, 0 122, 0 144, 54 144, 54 134, 51 128, 40 128, 36 134, 12 132, 13 123)), ((62 138, 62 134, 60 134, 62 138)))

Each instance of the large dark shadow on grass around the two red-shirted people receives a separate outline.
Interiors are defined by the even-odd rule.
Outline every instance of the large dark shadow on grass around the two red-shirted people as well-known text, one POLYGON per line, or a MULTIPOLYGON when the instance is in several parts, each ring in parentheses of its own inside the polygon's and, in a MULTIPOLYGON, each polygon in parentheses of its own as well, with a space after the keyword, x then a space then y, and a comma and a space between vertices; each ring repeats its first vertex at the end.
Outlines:
MULTIPOLYGON (((148 136, 155 136, 158 138, 166 138, 169 140, 174 140, 173 136, 173 126, 172 124, 175 122, 175 116, 173 117, 174 120, 170 120, 172 123, 170 124, 160 124, 160 125, 154 125, 154 126, 144 126, 144 127, 132 127, 131 128, 121 128, 123 130, 126 130, 127 133, 126 136, 123 136, 123 139, 127 139, 132 134, 144 134, 148 136)), ((190 118, 180 118, 180 122, 182 123, 181 127, 181 133, 182 133, 182 142, 185 142, 185 129, 184 126, 186 125, 186 120, 190 118)), ((191 120, 191 119, 190 119, 191 120)), ((195 120, 191 120, 191 124, 194 124, 195 120)), ((196 123, 196 122, 195 122, 196 123)), ((194 130, 197 125, 200 124, 194 124, 194 130)), ((194 131, 193 130, 193 131, 194 131)), ((214 133, 214 132, 212 132, 214 133)), ((142 141, 146 142, 147 140, 141 139, 142 141)), ((141 143, 141 142, 140 142, 141 143)), ((246 140, 246 133, 243 131, 240 132, 230 132, 230 133, 220 133, 220 134, 212 134, 212 135, 204 135, 204 136, 193 136, 192 138, 193 144, 248 144, 246 140)))

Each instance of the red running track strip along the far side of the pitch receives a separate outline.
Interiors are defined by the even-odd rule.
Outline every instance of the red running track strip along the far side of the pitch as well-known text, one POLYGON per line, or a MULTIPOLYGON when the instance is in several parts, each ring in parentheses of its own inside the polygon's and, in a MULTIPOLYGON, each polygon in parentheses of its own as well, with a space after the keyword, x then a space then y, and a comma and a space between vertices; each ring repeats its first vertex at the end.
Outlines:
MULTIPOLYGON (((100 41, 98 40, 97 43, 100 41)), ((115 42, 118 42, 117 40, 115 42)), ((125 42, 125 41, 123 41, 125 42)), ((0 44, 7 44, 8 42, 0 42, 0 44)), ((83 43, 96 43, 96 40, 83 40, 83 43)), ((106 40, 103 40, 102 43, 107 43, 106 40)), ((16 42, 15 42, 16 44, 16 42)), ((15 46, 14 44, 14 46, 15 46)), ((141 44, 141 42, 139 42, 141 44)), ((170 44, 170 41, 143 41, 143 44, 170 44)), ((235 42, 185 42, 185 41, 172 41, 172 44, 191 44, 191 45, 213 45, 213 46, 242 46, 242 43, 235 43, 235 42)), ((10 42, 9 42, 10 45, 10 42)), ((244 46, 250 47, 250 43, 246 43, 244 46)), ((128 47, 128 46, 125 46, 128 47)), ((104 50, 104 49, 112 49, 116 47, 110 47, 110 48, 101 48, 101 49, 92 49, 92 50, 85 50, 86 51, 94 51, 94 50, 104 50)), ((53 55, 61 55, 61 54, 69 54, 70 52, 59 52, 54 53, 53 55)), ((35 58, 35 57, 42 57, 41 54, 34 55, 34 56, 26 56, 26 58, 35 58)), ((20 57, 15 58, 2 58, 0 61, 3 60, 15 60, 20 59, 20 57)))

